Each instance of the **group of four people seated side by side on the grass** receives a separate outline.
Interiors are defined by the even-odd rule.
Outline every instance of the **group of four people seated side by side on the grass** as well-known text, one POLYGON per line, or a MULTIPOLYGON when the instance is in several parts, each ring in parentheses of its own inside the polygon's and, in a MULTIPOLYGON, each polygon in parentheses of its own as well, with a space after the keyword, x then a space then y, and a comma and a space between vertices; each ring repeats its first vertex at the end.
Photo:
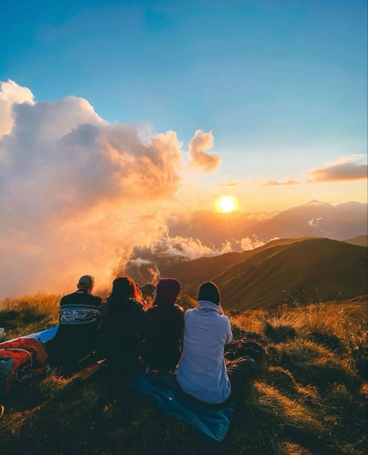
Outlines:
POLYGON ((158 281, 148 309, 128 276, 114 279, 104 304, 92 295, 93 286, 94 278, 84 275, 77 291, 61 298, 59 327, 47 346, 51 359, 75 367, 97 347, 108 368, 125 376, 137 370, 176 374, 181 389, 203 403, 237 398, 254 361, 225 361, 232 333, 214 283, 200 285, 197 307, 185 313, 176 304, 180 283, 174 278, 158 281))

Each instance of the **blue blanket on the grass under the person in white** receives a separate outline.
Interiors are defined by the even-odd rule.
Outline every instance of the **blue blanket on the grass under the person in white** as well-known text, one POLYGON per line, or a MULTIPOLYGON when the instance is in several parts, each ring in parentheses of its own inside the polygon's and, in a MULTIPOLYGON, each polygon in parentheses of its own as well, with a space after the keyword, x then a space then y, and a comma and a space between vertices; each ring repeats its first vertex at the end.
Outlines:
POLYGON ((233 402, 219 409, 207 407, 190 399, 179 387, 175 376, 148 376, 138 373, 133 376, 129 385, 146 395, 154 396, 164 414, 184 420, 217 442, 225 437, 235 407, 233 402))

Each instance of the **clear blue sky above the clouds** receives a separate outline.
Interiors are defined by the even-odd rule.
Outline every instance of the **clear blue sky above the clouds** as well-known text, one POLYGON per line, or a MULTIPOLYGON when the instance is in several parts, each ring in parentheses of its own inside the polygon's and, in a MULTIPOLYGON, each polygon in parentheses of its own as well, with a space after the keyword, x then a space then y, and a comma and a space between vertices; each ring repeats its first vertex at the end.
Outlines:
POLYGON ((298 179, 366 154, 366 13, 360 0, 9 2, 0 80, 174 130, 184 150, 211 130, 222 164, 208 183, 298 179))

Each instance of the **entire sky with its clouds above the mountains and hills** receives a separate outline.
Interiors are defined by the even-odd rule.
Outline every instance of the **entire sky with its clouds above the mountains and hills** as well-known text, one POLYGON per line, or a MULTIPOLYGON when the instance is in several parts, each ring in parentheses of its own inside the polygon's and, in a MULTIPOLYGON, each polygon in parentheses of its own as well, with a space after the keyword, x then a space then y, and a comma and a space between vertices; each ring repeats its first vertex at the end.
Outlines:
POLYGON ((214 210, 223 195, 246 212, 366 202, 366 10, 360 0, 3 4, 9 292, 19 267, 32 268, 30 289, 55 288, 86 261, 96 273, 103 264, 105 280, 132 246, 167 232, 170 213, 214 210), (70 273, 47 276, 73 252, 70 273))

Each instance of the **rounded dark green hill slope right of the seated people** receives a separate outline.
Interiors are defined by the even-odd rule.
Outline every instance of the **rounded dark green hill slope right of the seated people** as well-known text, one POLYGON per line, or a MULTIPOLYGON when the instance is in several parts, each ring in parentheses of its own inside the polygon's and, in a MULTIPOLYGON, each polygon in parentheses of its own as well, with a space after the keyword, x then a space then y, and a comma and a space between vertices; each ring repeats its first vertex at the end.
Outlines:
POLYGON ((365 247, 315 238, 254 252, 213 281, 224 306, 241 310, 364 295, 366 273, 365 247))

